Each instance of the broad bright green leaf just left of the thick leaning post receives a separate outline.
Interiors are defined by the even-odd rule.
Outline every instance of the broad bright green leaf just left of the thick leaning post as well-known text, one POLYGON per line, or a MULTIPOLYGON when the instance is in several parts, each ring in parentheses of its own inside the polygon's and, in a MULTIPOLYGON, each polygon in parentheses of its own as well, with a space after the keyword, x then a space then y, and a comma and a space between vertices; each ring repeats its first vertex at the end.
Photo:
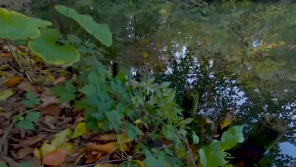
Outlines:
POLYGON ((242 128, 243 125, 232 126, 222 134, 221 148, 223 150, 228 150, 244 141, 242 128))

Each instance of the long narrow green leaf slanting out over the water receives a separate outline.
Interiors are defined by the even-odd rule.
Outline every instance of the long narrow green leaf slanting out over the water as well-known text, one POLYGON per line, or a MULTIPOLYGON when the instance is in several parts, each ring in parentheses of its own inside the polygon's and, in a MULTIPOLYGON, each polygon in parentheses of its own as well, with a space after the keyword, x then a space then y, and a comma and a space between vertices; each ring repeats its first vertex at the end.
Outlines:
POLYGON ((93 21, 88 15, 80 15, 74 9, 63 5, 56 5, 56 10, 66 17, 77 21, 88 33, 92 34, 96 39, 106 46, 112 44, 112 34, 107 24, 99 24, 93 21))

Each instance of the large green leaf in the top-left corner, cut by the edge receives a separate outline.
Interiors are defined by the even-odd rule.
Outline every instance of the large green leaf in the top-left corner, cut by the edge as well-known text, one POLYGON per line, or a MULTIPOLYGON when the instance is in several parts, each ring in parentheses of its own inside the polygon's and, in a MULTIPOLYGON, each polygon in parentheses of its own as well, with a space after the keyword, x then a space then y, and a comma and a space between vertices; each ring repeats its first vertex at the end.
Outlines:
POLYGON ((52 25, 50 21, 30 18, 15 11, 0 8, 0 38, 10 40, 36 39, 38 28, 52 25))

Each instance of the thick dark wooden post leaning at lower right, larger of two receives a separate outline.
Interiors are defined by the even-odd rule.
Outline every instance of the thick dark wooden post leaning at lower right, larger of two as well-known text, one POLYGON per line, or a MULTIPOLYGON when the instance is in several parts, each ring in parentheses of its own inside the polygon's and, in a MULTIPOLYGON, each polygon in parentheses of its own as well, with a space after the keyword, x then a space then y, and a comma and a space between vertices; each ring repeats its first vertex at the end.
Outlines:
POLYGON ((265 115, 259 119, 243 144, 230 154, 235 157, 230 160, 234 167, 255 167, 277 141, 286 133, 287 125, 279 118, 265 115))

